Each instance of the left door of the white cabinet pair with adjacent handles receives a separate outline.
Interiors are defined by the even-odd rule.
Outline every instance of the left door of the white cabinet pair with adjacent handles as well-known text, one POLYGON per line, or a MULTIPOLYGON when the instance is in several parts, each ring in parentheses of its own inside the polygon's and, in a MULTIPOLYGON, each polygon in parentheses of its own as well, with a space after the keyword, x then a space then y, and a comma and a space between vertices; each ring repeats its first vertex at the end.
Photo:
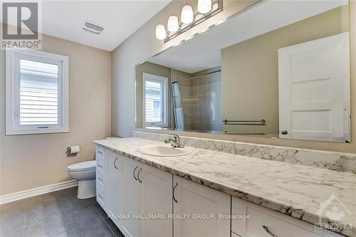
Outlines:
POLYGON ((140 236, 138 162, 122 157, 121 160, 121 210, 127 218, 121 220, 121 231, 126 237, 140 236))

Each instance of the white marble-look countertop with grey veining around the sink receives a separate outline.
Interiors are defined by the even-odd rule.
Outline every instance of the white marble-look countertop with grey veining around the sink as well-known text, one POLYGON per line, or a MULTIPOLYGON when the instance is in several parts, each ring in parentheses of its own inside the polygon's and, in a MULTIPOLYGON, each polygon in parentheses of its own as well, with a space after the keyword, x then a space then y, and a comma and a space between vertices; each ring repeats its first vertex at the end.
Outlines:
MULTIPOLYGON (((343 216, 335 223, 352 225, 352 231, 340 225, 340 233, 356 236, 356 174, 194 147, 188 147, 192 149, 192 154, 180 157, 153 157, 141 154, 137 149, 148 144, 164 143, 137 137, 93 142, 179 177, 308 223, 319 223, 320 204, 330 204, 328 208, 337 206, 339 211, 343 211, 343 216)), ((322 223, 329 222, 328 208, 321 212, 322 223)))

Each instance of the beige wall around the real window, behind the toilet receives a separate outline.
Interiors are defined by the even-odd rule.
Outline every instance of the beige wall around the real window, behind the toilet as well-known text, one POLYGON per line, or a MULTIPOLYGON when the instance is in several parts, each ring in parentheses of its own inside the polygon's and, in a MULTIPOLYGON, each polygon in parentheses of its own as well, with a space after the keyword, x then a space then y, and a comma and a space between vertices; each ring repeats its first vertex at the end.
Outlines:
POLYGON ((95 159, 93 139, 111 132, 110 52, 43 35, 43 51, 69 56, 69 133, 5 136, 4 51, 0 51, 0 195, 70 180, 69 164, 95 159), (80 145, 75 157, 66 148, 80 145))

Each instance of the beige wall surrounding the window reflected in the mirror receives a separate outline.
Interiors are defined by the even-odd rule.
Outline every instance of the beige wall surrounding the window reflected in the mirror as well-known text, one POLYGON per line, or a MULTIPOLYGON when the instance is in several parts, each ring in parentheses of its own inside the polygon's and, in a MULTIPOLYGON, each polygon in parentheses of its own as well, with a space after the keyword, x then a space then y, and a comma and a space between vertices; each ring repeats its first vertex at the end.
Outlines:
POLYGON ((141 63, 136 67, 136 127, 142 127, 142 73, 150 73, 168 78, 168 117, 171 114, 171 68, 150 62, 141 63))

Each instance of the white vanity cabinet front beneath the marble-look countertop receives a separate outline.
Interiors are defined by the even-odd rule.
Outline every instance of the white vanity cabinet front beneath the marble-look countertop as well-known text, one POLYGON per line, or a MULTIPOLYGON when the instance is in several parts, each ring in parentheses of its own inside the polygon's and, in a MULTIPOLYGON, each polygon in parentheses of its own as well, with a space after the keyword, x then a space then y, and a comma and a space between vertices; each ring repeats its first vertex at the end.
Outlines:
POLYGON ((97 201, 126 237, 340 237, 100 146, 96 161, 97 201))

